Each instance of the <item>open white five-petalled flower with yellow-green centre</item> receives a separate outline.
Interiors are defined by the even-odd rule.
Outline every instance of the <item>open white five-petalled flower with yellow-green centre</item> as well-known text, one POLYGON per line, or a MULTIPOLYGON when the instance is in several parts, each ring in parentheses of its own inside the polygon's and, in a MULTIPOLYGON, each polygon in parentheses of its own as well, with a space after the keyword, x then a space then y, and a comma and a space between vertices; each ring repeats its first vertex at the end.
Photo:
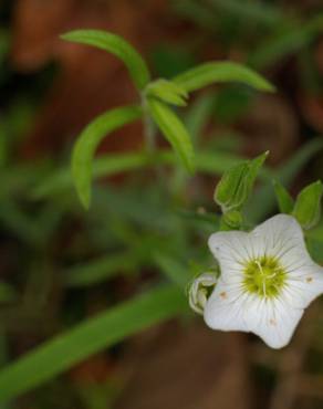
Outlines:
POLYGON ((296 220, 278 214, 250 233, 218 232, 209 248, 221 274, 204 308, 207 325, 285 346, 304 308, 323 292, 323 268, 310 258, 296 220))

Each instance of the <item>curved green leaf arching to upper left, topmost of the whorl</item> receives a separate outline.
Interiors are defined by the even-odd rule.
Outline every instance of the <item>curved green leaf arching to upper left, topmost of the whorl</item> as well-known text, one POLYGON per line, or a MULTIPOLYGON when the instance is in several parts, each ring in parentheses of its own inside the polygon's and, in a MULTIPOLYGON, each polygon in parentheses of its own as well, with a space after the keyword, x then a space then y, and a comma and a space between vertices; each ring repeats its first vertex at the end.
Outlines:
POLYGON ((140 54, 123 38, 101 30, 76 30, 61 35, 61 39, 93 45, 121 59, 128 69, 139 91, 150 81, 150 74, 140 54))

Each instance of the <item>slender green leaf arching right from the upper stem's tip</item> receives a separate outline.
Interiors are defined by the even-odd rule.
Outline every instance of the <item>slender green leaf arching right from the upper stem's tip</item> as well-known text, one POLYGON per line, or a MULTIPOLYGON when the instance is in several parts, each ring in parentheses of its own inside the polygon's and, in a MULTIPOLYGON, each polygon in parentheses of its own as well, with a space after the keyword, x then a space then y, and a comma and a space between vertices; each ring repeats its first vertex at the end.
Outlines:
POLYGON ((187 92, 222 82, 239 82, 259 91, 274 92, 274 86, 251 69, 227 61, 201 64, 177 75, 173 81, 187 92))

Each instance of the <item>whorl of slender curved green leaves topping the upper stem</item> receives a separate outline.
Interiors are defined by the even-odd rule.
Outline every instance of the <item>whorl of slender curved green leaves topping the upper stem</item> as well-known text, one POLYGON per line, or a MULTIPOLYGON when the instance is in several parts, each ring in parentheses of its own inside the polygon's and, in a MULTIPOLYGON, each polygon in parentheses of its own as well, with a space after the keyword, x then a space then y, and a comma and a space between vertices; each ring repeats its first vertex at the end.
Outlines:
POLYGON ((150 83, 149 70, 138 52, 118 35, 98 30, 76 30, 62 35, 62 39, 88 44, 111 52, 119 57, 128 69, 143 98, 144 111, 139 107, 124 107, 103 114, 81 134, 72 157, 72 174, 77 193, 85 208, 91 198, 91 164, 94 151, 107 133, 146 115, 177 153, 189 172, 195 171, 195 154, 188 130, 180 118, 168 106, 185 106, 188 93, 212 83, 241 82, 259 91, 274 88, 252 70, 230 62, 210 62, 192 67, 173 81, 157 80, 150 83))

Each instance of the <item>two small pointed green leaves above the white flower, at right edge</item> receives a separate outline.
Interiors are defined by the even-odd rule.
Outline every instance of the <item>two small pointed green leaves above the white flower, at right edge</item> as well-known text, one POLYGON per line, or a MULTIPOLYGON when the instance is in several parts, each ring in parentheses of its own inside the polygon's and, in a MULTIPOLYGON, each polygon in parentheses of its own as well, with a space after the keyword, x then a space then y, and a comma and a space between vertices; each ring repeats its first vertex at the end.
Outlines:
POLYGON ((279 181, 274 182, 274 191, 280 211, 294 216, 303 229, 312 229, 320 221, 321 199, 323 195, 321 180, 301 190, 295 203, 291 195, 279 181))

